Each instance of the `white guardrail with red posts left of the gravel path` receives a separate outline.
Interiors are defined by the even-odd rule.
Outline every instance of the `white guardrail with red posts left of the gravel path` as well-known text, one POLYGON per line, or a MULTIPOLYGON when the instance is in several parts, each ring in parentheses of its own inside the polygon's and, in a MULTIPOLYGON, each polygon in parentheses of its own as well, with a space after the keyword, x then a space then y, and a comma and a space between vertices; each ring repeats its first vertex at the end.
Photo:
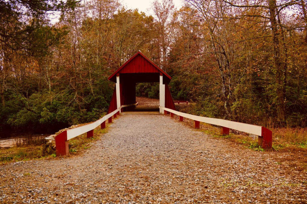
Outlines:
POLYGON ((112 116, 116 117, 116 114, 119 113, 120 109, 128 106, 137 106, 138 102, 129 105, 122 105, 120 108, 116 109, 115 111, 103 116, 99 120, 92 122, 90 124, 82 125, 80 127, 76 127, 73 129, 65 130, 61 132, 59 135, 56 135, 56 156, 64 156, 68 154, 68 140, 84 133, 87 133, 87 137, 93 136, 93 130, 98 127, 99 125, 103 124, 101 128, 105 128, 105 122, 112 116))

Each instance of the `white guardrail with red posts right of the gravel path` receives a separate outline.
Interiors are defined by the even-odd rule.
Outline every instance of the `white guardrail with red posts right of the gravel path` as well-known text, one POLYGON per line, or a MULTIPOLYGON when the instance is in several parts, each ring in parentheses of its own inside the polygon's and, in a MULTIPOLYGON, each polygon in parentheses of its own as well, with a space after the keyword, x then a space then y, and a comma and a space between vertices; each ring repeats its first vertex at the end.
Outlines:
POLYGON ((221 134, 229 134, 229 129, 238 130, 241 132, 247 132, 253 135, 258 135, 258 144, 262 148, 271 148, 272 147, 272 131, 269 129, 252 124, 239 123, 235 121, 227 121, 223 119, 210 118, 210 117, 201 117, 196 115, 191 115, 188 113, 182 113, 173 109, 164 108, 159 106, 160 109, 164 110, 164 114, 169 114, 173 117, 173 114, 179 116, 179 120, 182 121, 183 117, 191 119, 194 121, 194 128, 199 128, 199 122, 213 124, 221 126, 221 134))

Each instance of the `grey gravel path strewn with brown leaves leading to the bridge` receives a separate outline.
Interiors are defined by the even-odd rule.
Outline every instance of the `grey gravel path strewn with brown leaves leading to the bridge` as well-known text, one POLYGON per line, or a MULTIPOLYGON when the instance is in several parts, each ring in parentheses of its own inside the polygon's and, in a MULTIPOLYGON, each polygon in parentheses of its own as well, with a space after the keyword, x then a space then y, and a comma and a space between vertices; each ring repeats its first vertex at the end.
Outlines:
POLYGON ((306 172, 271 154, 126 114, 82 155, 0 166, 0 203, 306 203, 306 172))

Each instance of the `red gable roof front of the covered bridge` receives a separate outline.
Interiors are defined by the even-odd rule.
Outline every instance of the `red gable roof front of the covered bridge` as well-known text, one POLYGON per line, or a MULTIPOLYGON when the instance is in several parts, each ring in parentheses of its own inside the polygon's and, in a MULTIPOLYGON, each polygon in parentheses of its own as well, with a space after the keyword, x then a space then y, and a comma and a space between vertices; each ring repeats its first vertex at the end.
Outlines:
POLYGON ((158 67, 153 61, 146 57, 141 51, 138 51, 128 61, 126 61, 119 69, 117 69, 108 80, 116 83, 116 75, 118 73, 161 73, 163 80, 167 83, 172 79, 165 71, 158 67))

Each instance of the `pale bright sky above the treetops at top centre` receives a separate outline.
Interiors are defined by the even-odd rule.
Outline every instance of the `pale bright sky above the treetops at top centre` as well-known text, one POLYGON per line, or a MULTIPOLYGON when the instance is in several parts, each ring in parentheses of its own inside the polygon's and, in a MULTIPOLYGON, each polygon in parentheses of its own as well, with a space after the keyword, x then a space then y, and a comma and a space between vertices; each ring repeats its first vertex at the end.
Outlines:
MULTIPOLYGON (((162 2, 163 0, 159 0, 162 2)), ((175 8, 180 9, 183 6, 184 0, 173 0, 175 8)), ((153 15, 151 6, 153 0, 120 0, 123 6, 126 6, 127 9, 138 9, 138 11, 143 11, 147 15, 153 15)))

